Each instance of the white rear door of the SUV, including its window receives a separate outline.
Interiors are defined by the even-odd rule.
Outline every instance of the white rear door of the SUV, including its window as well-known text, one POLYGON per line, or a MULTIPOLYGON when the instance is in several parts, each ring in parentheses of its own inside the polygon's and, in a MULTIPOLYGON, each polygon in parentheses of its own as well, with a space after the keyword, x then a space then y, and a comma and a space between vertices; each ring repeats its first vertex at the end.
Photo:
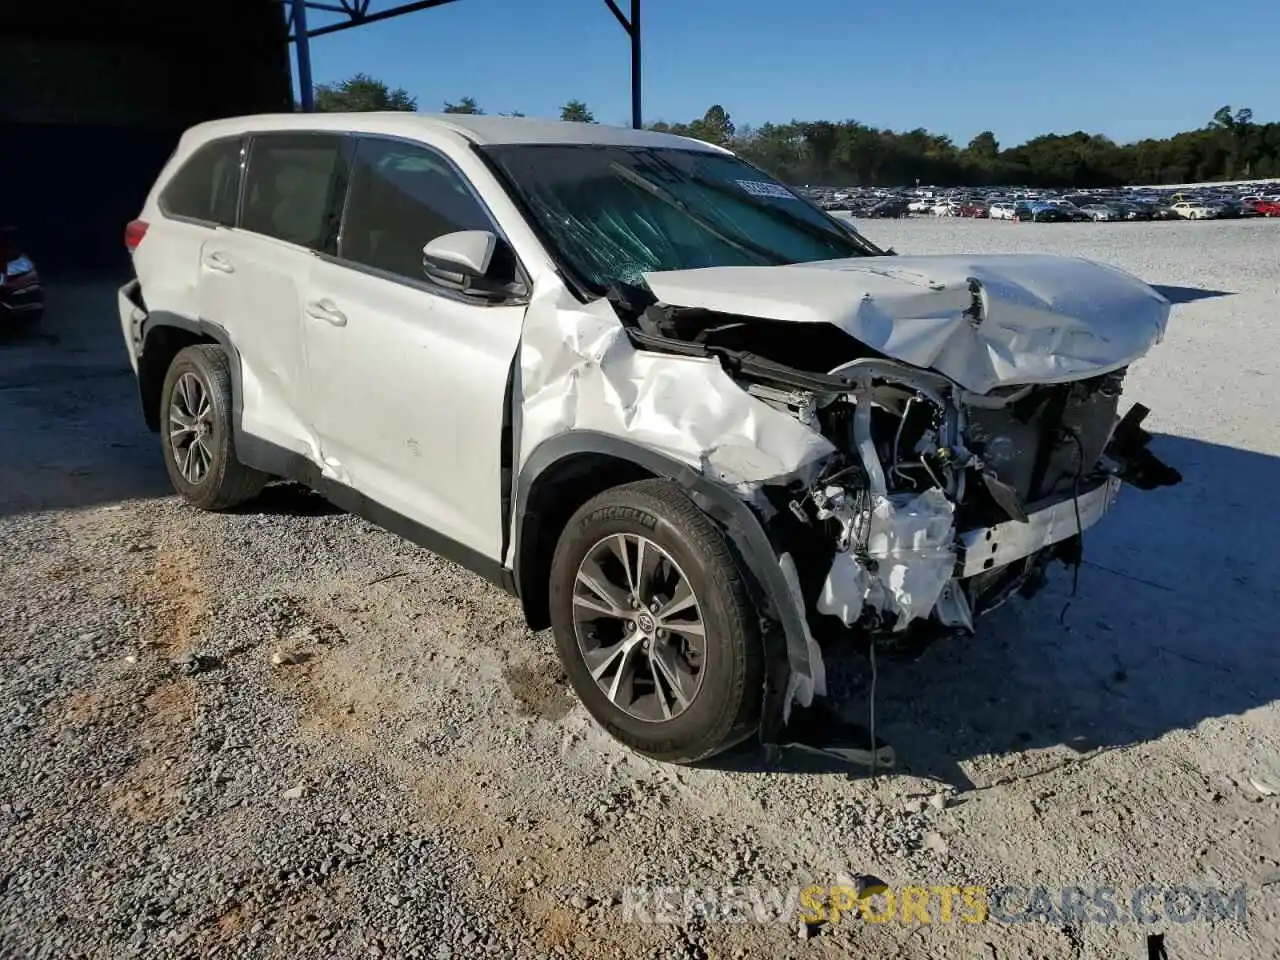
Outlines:
POLYGON ((337 250, 352 150, 334 133, 255 134, 238 227, 200 251, 200 312, 239 355, 243 430, 312 460, 302 305, 316 253, 337 250))

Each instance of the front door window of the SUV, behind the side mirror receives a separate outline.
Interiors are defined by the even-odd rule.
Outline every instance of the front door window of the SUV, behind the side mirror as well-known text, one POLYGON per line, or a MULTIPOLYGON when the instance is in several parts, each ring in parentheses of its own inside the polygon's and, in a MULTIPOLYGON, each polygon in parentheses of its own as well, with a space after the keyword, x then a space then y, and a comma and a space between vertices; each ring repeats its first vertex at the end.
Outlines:
POLYGON ((422 247, 457 230, 494 230, 461 174, 438 152, 415 143, 360 141, 339 256, 424 279, 422 247))

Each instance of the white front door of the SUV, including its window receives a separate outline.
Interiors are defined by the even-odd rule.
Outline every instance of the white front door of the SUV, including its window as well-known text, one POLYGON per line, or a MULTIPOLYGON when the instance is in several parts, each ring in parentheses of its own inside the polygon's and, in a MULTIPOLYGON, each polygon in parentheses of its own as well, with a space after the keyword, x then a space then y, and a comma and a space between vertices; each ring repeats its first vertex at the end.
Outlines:
POLYGON ((422 270, 429 241, 474 229, 502 236, 443 154, 361 137, 338 256, 311 273, 306 338, 326 475, 492 561, 525 305, 447 289, 422 270))

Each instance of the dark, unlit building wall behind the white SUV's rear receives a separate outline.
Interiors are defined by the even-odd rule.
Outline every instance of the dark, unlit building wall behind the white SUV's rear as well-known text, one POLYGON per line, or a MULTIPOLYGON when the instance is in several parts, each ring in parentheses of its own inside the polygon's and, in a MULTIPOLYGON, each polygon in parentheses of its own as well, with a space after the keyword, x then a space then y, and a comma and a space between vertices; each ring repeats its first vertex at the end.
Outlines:
POLYGON ((127 271, 184 129, 293 109, 287 27, 279 0, 0 0, 0 227, 47 278, 127 271))

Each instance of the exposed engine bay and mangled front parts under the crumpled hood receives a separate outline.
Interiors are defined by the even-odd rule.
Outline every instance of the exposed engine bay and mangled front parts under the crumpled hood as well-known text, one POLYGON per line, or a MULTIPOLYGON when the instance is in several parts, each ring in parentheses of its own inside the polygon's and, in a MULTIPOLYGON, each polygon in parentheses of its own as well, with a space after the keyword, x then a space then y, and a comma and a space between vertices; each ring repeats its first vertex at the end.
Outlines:
POLYGON ((616 306, 637 348, 714 357, 835 447, 812 480, 765 484, 754 504, 818 641, 913 652, 972 631, 1052 561, 1080 562, 1120 481, 1180 480, 1147 451, 1146 410, 1119 417, 1123 366, 979 394, 831 324, 616 306))

